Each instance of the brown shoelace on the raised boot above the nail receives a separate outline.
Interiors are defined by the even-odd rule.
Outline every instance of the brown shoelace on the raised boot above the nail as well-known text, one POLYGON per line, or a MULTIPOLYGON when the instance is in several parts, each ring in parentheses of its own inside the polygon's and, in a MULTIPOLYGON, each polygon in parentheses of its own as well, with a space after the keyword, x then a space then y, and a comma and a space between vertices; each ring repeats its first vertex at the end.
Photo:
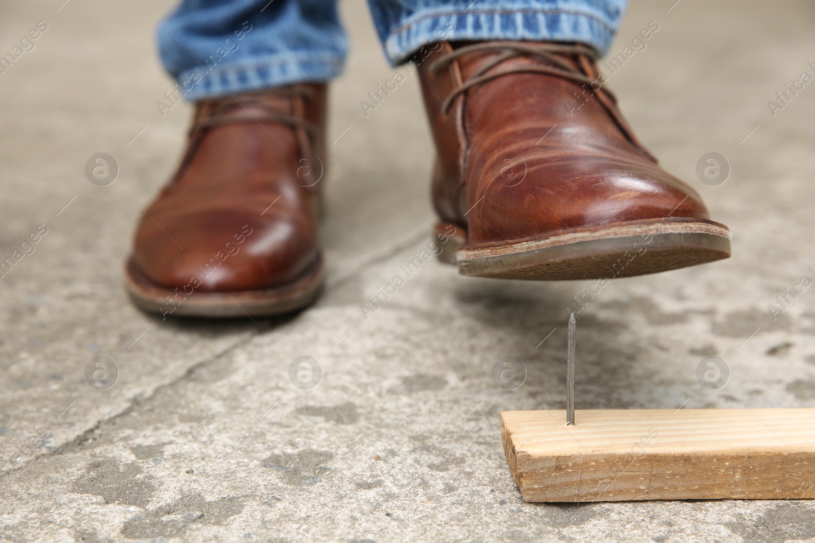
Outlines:
POLYGON ((586 85, 586 88, 597 97, 602 107, 606 109, 611 118, 623 131, 623 134, 625 134, 640 151, 656 162, 654 155, 651 155, 650 152, 645 149, 645 146, 643 146, 640 140, 637 139, 637 136, 634 135, 631 127, 628 126, 628 122, 618 111, 615 95, 603 87, 600 87, 598 90, 593 89, 593 83, 597 81, 597 77, 599 77, 600 74, 594 66, 594 62, 597 60, 597 52, 589 46, 579 43, 482 42, 459 47, 446 55, 442 55, 430 64, 430 71, 438 73, 440 69, 465 55, 494 52, 500 54, 470 74, 461 85, 458 85, 450 94, 447 94, 447 97, 442 103, 443 113, 452 111, 452 103, 460 94, 464 94, 474 86, 481 85, 497 77, 503 77, 513 73, 530 72, 562 77, 563 79, 574 81, 579 85, 586 85), (579 68, 575 68, 571 63, 566 62, 565 59, 557 55, 574 58, 579 68), (543 63, 510 66, 490 72, 492 68, 496 68, 496 66, 505 60, 518 56, 531 57, 541 60, 543 63))

